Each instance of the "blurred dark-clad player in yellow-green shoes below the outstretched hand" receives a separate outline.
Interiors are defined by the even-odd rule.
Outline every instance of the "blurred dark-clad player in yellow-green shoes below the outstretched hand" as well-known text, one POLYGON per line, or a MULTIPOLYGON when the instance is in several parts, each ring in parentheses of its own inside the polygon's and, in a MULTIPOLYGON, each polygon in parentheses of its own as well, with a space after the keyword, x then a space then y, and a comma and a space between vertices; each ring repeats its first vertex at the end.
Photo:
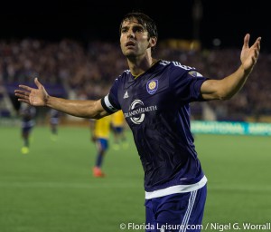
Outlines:
POLYGON ((35 125, 34 118, 36 116, 36 109, 29 104, 22 103, 19 114, 22 117, 23 148, 21 151, 23 154, 27 154, 30 146, 30 134, 35 125))

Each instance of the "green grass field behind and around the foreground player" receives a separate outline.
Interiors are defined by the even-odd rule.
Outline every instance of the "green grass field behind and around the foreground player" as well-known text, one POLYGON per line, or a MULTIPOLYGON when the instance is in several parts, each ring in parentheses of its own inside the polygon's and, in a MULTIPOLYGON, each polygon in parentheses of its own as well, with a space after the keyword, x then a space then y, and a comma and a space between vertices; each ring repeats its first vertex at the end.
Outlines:
MULTIPOLYGON (((127 135, 129 148, 108 150, 107 177, 94 179, 89 128, 61 127, 52 141, 49 128, 36 127, 23 155, 20 128, 1 127, 0 231, 144 231, 120 229, 145 222, 143 169, 127 135)), ((226 225, 202 231, 271 222, 270 137, 198 134, 195 144, 209 179, 203 226, 226 225)))

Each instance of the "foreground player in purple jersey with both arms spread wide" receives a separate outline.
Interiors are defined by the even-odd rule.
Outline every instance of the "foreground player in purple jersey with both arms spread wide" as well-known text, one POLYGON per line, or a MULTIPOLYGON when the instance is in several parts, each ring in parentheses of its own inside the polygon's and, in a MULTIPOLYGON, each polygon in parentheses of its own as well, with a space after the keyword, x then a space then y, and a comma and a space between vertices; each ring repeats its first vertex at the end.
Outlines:
POLYGON ((237 70, 215 80, 177 61, 154 59, 158 33, 148 15, 126 14, 119 34, 129 70, 117 77, 107 96, 98 101, 56 98, 37 79, 37 89, 19 85, 15 95, 20 102, 85 118, 122 110, 145 171, 145 223, 155 227, 150 231, 200 231, 191 228, 201 225, 207 178, 193 143, 190 102, 227 100, 237 94, 257 63, 261 37, 249 46, 246 34, 237 70))

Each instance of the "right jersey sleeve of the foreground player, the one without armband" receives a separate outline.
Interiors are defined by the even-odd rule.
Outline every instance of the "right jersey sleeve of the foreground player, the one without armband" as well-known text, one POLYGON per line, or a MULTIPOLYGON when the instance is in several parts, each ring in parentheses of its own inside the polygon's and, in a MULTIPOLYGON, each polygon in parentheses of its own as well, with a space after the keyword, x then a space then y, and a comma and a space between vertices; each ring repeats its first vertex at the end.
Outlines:
POLYGON ((170 86, 175 97, 181 102, 203 102, 201 84, 208 80, 194 68, 174 67, 170 75, 170 86))

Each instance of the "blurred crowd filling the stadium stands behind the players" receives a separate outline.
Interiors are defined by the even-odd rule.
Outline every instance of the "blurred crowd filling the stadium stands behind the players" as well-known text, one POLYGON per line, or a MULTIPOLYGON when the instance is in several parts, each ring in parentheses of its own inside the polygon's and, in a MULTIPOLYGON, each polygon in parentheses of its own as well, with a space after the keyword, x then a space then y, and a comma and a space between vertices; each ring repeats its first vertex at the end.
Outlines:
MULTIPOLYGON (((238 68, 239 55, 238 49, 184 51, 163 43, 158 43, 154 52, 156 58, 196 67, 202 75, 218 79, 238 68)), ((68 39, 57 43, 33 39, 0 41, 0 102, 7 93, 16 109, 14 88, 19 83, 33 84, 35 76, 52 95, 97 99, 107 94, 112 82, 126 69, 126 58, 117 43, 82 44, 68 39)), ((192 117, 197 120, 266 121, 271 118, 270 73, 271 53, 261 53, 255 70, 238 95, 223 103, 194 102, 192 117), (204 113, 206 109, 209 113, 204 113)))

